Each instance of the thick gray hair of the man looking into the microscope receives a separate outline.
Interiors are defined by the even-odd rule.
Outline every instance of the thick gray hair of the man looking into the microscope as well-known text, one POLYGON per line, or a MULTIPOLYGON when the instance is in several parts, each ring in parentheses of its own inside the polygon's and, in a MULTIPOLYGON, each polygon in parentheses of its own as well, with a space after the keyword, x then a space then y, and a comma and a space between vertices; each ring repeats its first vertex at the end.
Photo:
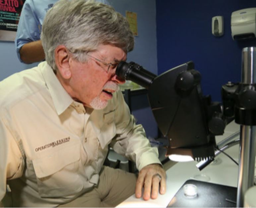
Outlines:
POLYGON ((86 52, 110 44, 124 52, 133 50, 128 21, 111 6, 95 0, 59 0, 46 13, 41 41, 47 63, 57 70, 54 50, 64 45, 73 57, 86 61, 86 52))

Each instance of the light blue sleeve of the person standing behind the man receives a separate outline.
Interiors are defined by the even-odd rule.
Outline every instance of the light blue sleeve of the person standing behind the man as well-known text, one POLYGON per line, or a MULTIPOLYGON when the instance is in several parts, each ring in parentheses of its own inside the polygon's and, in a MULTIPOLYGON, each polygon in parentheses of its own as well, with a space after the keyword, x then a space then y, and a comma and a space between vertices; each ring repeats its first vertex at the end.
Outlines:
POLYGON ((31 0, 25 1, 15 38, 16 52, 21 62, 23 62, 20 57, 21 47, 26 43, 40 40, 41 27, 33 2, 31 0))

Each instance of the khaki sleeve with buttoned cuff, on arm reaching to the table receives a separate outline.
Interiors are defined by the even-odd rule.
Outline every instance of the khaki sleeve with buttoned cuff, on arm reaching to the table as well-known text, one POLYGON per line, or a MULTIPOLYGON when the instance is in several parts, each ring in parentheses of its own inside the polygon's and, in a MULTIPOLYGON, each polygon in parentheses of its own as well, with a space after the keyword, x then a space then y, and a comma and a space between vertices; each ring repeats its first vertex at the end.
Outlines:
POLYGON ((139 171, 149 164, 161 164, 158 149, 151 147, 142 125, 135 123, 120 90, 117 92, 115 122, 117 137, 111 142, 115 152, 134 161, 139 171))

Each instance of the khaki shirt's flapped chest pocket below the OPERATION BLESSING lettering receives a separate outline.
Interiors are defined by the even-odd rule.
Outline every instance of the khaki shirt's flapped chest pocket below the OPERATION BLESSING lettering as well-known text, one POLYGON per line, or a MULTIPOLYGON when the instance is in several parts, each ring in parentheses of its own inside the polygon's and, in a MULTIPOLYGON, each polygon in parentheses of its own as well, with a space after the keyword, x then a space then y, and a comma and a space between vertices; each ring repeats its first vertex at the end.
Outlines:
POLYGON ((81 144, 78 143, 32 160, 41 197, 74 195, 83 189, 78 174, 80 153, 81 144))

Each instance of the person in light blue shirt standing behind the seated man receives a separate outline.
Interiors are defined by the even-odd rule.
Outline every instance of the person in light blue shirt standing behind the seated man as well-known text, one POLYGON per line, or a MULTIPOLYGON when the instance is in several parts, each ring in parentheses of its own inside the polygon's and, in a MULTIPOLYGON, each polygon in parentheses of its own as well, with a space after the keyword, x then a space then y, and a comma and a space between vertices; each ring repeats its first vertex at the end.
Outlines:
MULTIPOLYGON (((39 62, 45 59, 40 40, 41 28, 46 12, 58 0, 26 0, 15 38, 18 58, 24 63, 39 62)), ((108 4, 106 0, 97 0, 108 4)))

